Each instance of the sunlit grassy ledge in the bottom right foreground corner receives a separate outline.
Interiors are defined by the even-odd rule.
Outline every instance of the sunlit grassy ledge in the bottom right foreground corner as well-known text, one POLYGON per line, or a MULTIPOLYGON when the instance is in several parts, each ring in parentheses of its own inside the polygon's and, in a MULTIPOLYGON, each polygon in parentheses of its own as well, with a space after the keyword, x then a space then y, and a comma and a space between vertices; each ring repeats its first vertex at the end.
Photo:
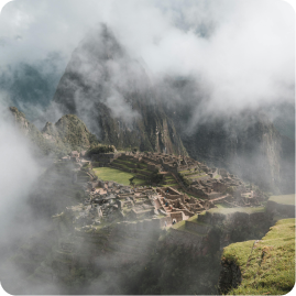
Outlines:
POLYGON ((235 263, 243 278, 228 295, 287 295, 296 283, 296 219, 279 220, 255 244, 227 246, 222 260, 235 263))

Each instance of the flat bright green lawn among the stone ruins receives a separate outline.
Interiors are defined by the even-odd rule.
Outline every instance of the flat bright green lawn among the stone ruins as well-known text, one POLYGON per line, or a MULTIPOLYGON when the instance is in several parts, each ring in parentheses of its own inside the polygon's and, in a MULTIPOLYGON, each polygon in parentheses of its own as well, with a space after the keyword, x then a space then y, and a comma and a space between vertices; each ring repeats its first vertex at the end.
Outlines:
MULTIPOLYGON (((97 167, 94 168, 94 172, 102 180, 113 180, 122 185, 130 185, 129 179, 134 176, 134 174, 110 167, 97 167)), ((145 180, 135 178, 133 183, 135 185, 142 185, 145 184, 145 180)))

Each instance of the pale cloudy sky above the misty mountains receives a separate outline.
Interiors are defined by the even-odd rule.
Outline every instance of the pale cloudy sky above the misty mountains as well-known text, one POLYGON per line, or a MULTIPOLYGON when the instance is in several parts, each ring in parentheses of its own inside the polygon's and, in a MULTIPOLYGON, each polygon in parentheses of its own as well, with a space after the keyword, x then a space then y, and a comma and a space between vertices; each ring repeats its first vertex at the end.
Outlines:
POLYGON ((58 52, 64 69, 105 22, 153 75, 202 81, 205 109, 295 98, 296 15, 284 0, 12 0, 0 15, 1 66, 58 52))

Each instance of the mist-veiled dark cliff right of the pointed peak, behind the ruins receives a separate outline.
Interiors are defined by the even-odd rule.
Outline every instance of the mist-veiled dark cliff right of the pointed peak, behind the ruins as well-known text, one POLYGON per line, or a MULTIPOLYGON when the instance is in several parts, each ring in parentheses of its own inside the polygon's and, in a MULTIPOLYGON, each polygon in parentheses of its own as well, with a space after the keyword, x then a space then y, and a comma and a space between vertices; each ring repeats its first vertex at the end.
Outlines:
POLYGON ((262 116, 221 120, 185 136, 188 153, 266 189, 282 183, 282 138, 262 116))

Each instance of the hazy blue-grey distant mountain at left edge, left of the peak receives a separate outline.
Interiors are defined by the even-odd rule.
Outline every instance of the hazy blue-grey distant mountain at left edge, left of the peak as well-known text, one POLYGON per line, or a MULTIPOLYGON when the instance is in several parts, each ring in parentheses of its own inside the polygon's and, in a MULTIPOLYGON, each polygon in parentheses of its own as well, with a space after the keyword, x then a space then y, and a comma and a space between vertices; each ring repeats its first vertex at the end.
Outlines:
POLYGON ((9 103, 32 120, 46 108, 63 75, 64 59, 53 53, 34 64, 20 63, 0 68, 0 88, 9 103))

